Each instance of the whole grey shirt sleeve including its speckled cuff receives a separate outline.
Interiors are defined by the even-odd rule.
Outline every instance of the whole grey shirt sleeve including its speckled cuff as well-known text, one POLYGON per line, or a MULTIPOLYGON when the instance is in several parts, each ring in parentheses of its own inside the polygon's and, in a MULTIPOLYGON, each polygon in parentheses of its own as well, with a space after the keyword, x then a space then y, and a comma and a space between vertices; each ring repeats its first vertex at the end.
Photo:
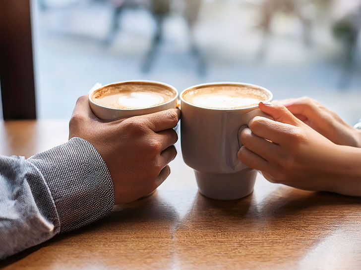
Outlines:
POLYGON ((0 259, 96 221, 113 206, 108 168, 84 139, 27 160, 0 156, 0 259))

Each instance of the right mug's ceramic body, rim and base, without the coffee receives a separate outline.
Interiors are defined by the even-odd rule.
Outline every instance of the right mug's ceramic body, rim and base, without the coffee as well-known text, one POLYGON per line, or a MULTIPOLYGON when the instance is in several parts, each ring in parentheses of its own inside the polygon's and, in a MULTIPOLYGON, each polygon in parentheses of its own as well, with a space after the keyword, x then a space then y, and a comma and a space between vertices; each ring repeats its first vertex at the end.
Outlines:
POLYGON ((181 149, 184 162, 194 169, 200 193, 219 200, 239 199, 253 190, 257 171, 245 166, 237 157, 242 126, 262 112, 256 106, 238 109, 204 108, 184 100, 188 90, 202 87, 247 86, 272 93, 260 86, 243 83, 212 83, 192 86, 182 91, 181 149), (258 109, 257 109, 258 108, 258 109))

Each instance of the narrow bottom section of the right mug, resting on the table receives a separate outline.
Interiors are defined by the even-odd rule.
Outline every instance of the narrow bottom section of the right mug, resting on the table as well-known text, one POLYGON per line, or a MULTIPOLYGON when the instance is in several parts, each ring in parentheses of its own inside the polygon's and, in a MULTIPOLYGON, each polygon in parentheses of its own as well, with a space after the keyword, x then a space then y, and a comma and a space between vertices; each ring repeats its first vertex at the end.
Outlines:
POLYGON ((257 171, 245 169, 234 174, 194 171, 194 174, 202 195, 216 200, 237 200, 252 193, 257 171))

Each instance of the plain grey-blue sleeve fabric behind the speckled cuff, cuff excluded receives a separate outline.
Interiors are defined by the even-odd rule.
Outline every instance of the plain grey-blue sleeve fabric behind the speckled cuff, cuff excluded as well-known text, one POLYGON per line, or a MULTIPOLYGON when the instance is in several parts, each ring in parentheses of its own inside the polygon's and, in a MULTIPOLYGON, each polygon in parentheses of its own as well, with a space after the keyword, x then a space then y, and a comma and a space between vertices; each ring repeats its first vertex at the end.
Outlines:
POLYGON ((39 170, 23 157, 0 157, 0 259, 60 231, 58 212, 39 170))

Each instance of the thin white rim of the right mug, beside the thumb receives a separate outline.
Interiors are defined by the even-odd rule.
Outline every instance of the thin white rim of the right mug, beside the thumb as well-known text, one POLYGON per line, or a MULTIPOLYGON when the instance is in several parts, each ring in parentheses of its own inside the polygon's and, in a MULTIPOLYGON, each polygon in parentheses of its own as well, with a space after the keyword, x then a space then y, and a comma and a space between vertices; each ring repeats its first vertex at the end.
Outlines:
POLYGON ((201 108, 201 109, 219 110, 219 111, 237 111, 237 110, 246 110, 246 109, 252 109, 252 108, 257 108, 258 107, 258 104, 256 104, 256 105, 246 106, 246 107, 242 107, 242 108, 210 108, 210 107, 203 107, 203 106, 195 105, 193 103, 190 103, 190 102, 186 101, 183 98, 183 94, 186 91, 196 89, 196 88, 202 88, 202 87, 205 87, 205 86, 219 86, 219 85, 248 86, 248 87, 251 87, 251 88, 260 89, 260 90, 265 91, 268 94, 268 98, 266 100, 263 100, 263 101, 271 101, 273 99, 272 92, 270 90, 268 90, 267 88, 261 87, 259 85, 241 83, 241 82, 214 82, 214 83, 198 84, 198 85, 194 85, 194 86, 191 86, 191 87, 188 87, 188 88, 184 89, 183 91, 181 91, 181 93, 179 95, 180 99, 181 99, 181 102, 184 102, 184 103, 186 103, 186 104, 188 104, 190 106, 201 108))

